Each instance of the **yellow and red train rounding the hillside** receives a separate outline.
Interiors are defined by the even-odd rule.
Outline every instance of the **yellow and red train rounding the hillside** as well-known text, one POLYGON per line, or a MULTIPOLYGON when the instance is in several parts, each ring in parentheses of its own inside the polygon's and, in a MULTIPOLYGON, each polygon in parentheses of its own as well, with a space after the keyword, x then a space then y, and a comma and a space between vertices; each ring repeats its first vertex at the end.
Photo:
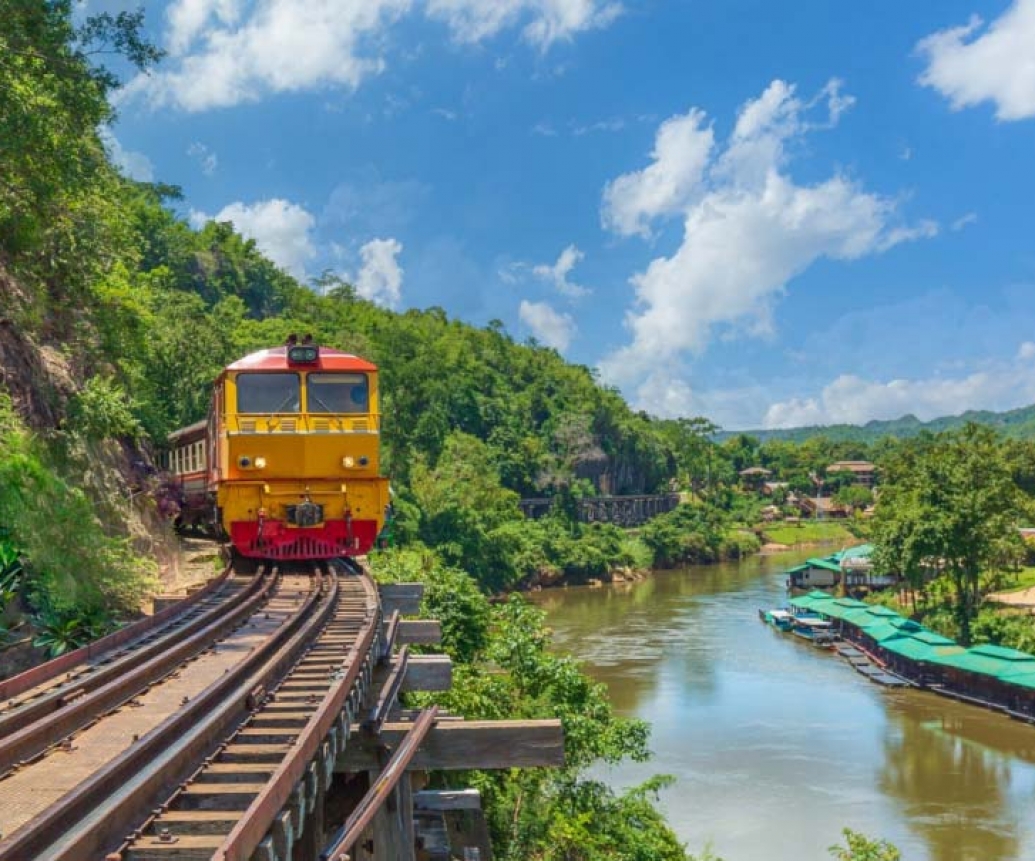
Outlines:
POLYGON ((207 418, 168 438, 177 526, 250 564, 366 554, 391 514, 379 404, 377 365, 308 335, 227 365, 207 418))

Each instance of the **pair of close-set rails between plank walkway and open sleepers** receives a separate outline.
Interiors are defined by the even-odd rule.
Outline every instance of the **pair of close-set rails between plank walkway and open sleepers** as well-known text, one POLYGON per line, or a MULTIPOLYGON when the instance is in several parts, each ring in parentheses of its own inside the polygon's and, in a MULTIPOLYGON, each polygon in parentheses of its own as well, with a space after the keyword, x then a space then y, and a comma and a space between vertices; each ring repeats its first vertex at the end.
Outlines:
POLYGON ((333 606, 329 601, 322 612, 312 613, 321 594, 310 592, 291 621, 234 671, 46 812, 0 840, 0 861, 83 861, 102 852, 113 832, 126 833, 233 732, 248 713, 252 692, 270 685, 319 630, 333 606))

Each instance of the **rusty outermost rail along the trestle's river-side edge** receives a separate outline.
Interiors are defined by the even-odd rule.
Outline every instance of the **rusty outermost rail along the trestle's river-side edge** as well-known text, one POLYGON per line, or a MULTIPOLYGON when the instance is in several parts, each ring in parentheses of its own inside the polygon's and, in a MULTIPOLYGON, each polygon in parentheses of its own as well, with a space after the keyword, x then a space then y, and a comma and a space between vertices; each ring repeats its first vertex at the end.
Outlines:
POLYGON ((291 753, 277 767, 265 788, 227 835, 213 856, 213 861, 247 861, 250 858, 346 708, 346 701, 351 696, 364 665, 374 661, 381 628, 377 588, 366 574, 361 575, 360 582, 367 598, 366 624, 342 661, 344 674, 324 695, 323 702, 295 741, 291 753))

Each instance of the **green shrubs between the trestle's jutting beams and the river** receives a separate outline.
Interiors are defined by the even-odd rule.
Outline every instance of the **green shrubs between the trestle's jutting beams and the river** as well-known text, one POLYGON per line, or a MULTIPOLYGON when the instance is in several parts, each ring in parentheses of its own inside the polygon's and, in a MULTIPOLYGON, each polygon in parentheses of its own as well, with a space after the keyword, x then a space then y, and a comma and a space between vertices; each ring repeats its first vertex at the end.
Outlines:
POLYGON ((686 861, 653 806, 664 778, 617 794, 587 778, 587 768, 649 758, 649 730, 620 718, 602 684, 571 657, 550 651, 544 615, 522 597, 491 604, 474 581, 430 552, 389 551, 372 558, 379 580, 425 584, 423 614, 442 623, 442 650, 453 659, 453 687, 414 694, 468 719, 559 717, 565 766, 455 775, 433 786, 481 792, 495 856, 503 861, 686 861))

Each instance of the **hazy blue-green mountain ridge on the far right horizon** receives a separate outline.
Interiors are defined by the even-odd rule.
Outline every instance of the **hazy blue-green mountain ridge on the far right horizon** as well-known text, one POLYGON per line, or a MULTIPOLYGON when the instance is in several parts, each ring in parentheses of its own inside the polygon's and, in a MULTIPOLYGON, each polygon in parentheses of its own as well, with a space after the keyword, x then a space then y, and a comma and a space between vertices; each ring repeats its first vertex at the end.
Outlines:
POLYGON ((826 437, 835 442, 871 443, 884 437, 899 439, 915 437, 923 430, 937 434, 941 430, 959 427, 968 421, 976 421, 999 428, 1006 437, 1035 439, 1035 404, 1030 407, 1019 407, 1016 410, 1007 410, 1004 413, 994 413, 989 410, 968 410, 958 416, 943 416, 930 421, 920 421, 914 415, 906 415, 888 421, 867 421, 865 424, 814 424, 807 427, 785 427, 776 430, 726 430, 716 437, 719 440, 724 440, 739 434, 746 434, 763 442, 786 440, 794 443, 804 442, 811 437, 826 437))

